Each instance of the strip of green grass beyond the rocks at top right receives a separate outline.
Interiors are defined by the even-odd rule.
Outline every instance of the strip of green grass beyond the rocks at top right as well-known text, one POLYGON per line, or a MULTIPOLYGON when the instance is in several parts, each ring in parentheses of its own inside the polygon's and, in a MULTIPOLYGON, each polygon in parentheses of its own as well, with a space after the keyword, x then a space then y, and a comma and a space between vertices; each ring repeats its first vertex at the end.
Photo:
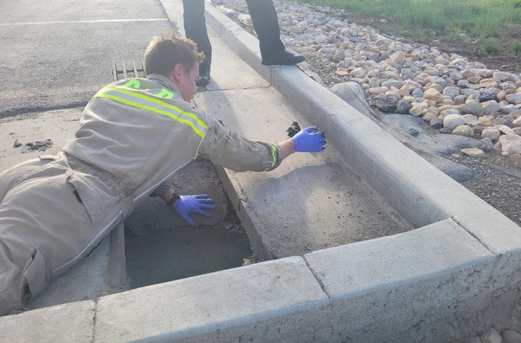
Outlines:
POLYGON ((521 24, 520 0, 299 0, 415 24, 425 30, 455 35, 463 28, 475 39, 487 39, 505 23, 521 24), (449 31, 449 32, 445 32, 449 31))

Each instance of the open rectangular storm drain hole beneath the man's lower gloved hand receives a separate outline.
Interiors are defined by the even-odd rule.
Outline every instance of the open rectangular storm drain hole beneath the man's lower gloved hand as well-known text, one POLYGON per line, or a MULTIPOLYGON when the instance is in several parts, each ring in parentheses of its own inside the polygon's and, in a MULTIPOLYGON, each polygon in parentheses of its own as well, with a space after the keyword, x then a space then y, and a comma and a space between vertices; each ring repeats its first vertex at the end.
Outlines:
POLYGON ((191 214, 185 223, 162 199, 145 197, 125 221, 125 259, 130 289, 242 265, 257 258, 222 182, 209 161, 179 170, 170 185, 181 195, 208 194, 213 217, 191 214))

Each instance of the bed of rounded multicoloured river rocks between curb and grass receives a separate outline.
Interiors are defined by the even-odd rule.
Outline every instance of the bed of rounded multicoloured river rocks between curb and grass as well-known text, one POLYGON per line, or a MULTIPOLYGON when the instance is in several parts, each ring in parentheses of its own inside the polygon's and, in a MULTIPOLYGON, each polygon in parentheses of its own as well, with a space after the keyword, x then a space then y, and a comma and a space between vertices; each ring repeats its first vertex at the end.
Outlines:
MULTIPOLYGON (((243 1, 218 2, 237 12, 245 10, 243 1)), ((382 37, 384 33, 327 6, 276 2, 276 7, 283 44, 306 55, 326 85, 346 79, 358 83, 370 106, 421 117, 440 133, 466 125, 469 128, 454 133, 469 135, 472 130, 492 142, 500 134, 518 134, 514 129, 521 128, 521 80, 506 70, 511 67, 493 70, 426 44, 382 37)))

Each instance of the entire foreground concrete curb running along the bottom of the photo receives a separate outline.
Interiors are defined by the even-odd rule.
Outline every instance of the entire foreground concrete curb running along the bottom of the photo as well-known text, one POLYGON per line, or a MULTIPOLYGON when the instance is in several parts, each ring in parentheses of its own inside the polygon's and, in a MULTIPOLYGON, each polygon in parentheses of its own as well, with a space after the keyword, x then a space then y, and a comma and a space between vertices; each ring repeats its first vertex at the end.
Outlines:
POLYGON ((470 335, 505 320, 498 313, 499 323, 473 322, 492 305, 510 305, 497 261, 448 219, 125 291, 96 307, 84 301, 2 317, 0 341, 440 342, 458 338, 456 329, 470 335), (62 320, 67 331, 55 324, 62 320))

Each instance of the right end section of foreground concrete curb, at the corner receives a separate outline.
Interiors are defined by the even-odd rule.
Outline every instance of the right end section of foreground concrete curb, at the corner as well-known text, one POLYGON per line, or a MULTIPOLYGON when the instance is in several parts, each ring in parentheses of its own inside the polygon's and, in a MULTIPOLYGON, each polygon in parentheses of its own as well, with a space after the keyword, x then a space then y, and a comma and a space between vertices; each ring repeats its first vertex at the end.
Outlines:
POLYGON ((340 341, 443 341, 448 323, 500 287, 489 278, 494 255, 450 219, 304 258, 331 298, 340 341))

